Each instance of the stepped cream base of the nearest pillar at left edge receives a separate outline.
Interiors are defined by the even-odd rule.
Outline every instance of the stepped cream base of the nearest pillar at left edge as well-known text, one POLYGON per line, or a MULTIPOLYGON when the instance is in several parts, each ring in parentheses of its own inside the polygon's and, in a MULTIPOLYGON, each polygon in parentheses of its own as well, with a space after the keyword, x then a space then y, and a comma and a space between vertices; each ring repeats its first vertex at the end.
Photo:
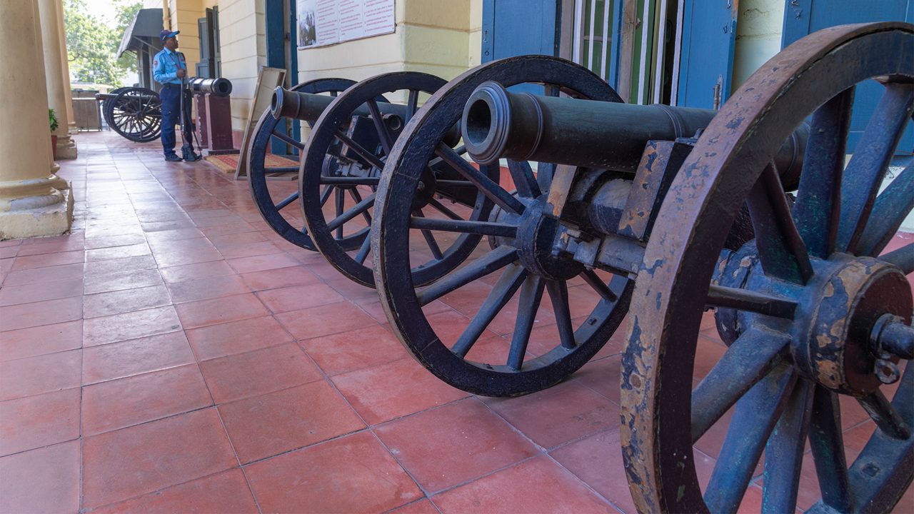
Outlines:
POLYGON ((71 189, 51 189, 47 195, 16 198, 0 212, 0 241, 39 236, 58 236, 73 223, 71 189))

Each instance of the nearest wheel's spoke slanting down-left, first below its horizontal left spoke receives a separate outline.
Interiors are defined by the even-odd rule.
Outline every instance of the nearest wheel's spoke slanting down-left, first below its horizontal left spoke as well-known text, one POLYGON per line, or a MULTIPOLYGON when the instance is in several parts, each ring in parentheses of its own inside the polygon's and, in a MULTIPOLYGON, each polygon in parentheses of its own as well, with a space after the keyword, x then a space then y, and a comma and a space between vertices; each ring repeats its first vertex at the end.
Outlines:
POLYGON ((692 441, 717 423, 739 398, 781 362, 791 339, 752 328, 727 348, 723 357, 692 391, 692 441))

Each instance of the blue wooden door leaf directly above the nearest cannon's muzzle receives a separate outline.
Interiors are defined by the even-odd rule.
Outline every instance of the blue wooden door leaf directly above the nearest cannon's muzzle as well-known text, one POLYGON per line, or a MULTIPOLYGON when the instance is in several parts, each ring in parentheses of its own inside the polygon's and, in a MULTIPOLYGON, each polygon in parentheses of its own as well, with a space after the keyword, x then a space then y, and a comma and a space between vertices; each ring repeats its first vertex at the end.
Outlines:
POLYGON ((558 55, 559 4, 556 0, 484 0, 482 62, 558 55))

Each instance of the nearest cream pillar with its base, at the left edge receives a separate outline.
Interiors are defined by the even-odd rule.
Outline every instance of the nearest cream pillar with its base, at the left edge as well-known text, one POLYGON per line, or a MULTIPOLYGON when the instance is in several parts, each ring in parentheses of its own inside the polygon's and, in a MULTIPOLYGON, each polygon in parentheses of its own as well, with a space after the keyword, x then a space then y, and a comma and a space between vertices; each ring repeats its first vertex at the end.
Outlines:
POLYGON ((51 171, 48 91, 35 0, 0 1, 0 240, 62 234, 69 189, 51 171))

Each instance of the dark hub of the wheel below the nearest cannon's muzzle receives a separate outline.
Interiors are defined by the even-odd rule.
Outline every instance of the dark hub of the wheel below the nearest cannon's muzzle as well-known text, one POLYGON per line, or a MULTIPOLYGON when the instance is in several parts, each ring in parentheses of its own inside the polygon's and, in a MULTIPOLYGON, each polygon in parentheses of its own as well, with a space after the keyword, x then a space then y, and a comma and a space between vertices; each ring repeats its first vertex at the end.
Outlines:
POLYGON ((549 280, 569 280, 584 271, 584 265, 567 257, 553 255, 558 236, 558 220, 546 215, 546 196, 527 206, 517 227, 515 247, 527 271, 549 280))

